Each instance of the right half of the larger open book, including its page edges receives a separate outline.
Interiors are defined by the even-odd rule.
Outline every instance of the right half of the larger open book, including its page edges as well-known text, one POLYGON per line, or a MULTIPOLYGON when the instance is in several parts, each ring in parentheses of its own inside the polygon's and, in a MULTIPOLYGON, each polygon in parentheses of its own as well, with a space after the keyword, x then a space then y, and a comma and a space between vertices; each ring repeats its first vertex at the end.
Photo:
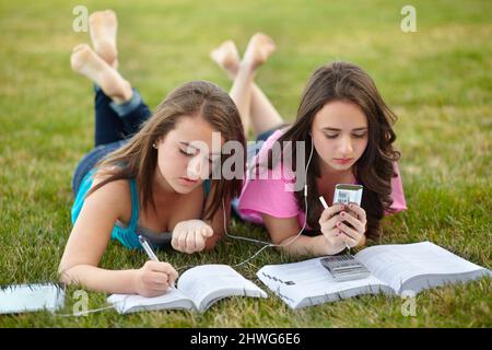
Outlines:
POLYGON ((418 293, 445 282, 490 275, 487 269, 431 242, 372 246, 358 253, 355 258, 398 294, 406 289, 418 293))

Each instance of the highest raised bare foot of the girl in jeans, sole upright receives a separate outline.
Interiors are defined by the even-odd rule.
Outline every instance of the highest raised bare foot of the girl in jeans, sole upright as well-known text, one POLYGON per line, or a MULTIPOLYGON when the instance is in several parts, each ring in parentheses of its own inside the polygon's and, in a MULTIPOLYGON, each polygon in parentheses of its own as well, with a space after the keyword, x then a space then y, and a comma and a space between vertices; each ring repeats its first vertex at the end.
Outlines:
POLYGON ((89 16, 92 45, 109 66, 117 68, 116 32, 118 21, 113 10, 96 11, 89 16))

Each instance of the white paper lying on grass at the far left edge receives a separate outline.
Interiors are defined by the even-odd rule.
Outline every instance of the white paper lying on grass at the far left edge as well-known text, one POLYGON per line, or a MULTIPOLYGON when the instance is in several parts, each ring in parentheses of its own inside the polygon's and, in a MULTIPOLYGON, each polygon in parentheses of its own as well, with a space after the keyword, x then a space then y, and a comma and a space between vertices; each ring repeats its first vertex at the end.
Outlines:
POLYGON ((65 292, 57 284, 15 284, 0 290, 0 314, 47 310, 55 312, 62 307, 65 292))

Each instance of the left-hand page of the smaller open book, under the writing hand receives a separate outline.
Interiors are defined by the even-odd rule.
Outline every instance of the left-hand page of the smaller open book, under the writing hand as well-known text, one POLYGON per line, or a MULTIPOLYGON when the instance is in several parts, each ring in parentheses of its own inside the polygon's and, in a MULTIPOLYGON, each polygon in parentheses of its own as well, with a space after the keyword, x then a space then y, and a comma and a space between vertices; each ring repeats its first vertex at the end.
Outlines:
POLYGON ((107 302, 113 304, 119 313, 129 312, 131 308, 134 308, 132 312, 166 308, 162 307, 163 305, 168 305, 169 308, 194 307, 192 301, 175 288, 169 288, 165 294, 153 298, 138 294, 113 294, 107 302))

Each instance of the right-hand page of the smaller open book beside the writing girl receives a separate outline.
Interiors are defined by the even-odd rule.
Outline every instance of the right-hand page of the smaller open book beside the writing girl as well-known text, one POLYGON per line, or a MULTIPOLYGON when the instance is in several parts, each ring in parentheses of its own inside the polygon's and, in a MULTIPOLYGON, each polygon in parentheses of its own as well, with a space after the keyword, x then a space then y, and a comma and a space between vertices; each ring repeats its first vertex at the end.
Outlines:
POLYGON ((227 265, 202 265, 186 270, 177 288, 195 302, 200 312, 226 296, 268 296, 258 285, 227 265))

